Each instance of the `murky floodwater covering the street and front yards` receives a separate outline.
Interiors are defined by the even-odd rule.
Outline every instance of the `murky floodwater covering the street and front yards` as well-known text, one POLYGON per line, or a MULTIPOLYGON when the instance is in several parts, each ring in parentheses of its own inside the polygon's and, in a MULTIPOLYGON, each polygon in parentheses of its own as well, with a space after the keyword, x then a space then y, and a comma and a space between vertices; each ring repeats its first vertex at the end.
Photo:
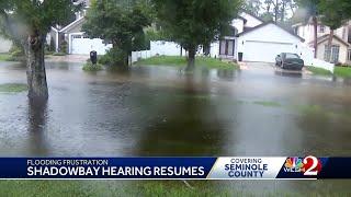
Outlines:
MULTIPOLYGON (((87 73, 68 62, 47 62, 47 79, 45 105, 0 93, 0 157, 351 155, 348 80, 259 63, 190 76, 168 67, 87 73)), ((24 67, 0 62, 0 84, 25 82, 24 67)), ((296 188, 253 184, 281 185, 296 188)))

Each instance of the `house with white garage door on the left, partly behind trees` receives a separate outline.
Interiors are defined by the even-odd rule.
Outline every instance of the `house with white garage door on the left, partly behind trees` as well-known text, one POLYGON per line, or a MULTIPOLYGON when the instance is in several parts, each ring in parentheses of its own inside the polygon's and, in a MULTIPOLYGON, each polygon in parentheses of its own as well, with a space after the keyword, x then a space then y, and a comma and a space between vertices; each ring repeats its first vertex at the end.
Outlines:
POLYGON ((61 51, 66 48, 68 54, 89 55, 91 50, 95 50, 99 55, 104 55, 112 45, 105 45, 100 38, 90 39, 81 31, 90 3, 89 0, 77 0, 75 2, 82 1, 86 2, 87 7, 76 13, 76 20, 64 27, 53 26, 47 43, 54 43, 56 51, 61 51))

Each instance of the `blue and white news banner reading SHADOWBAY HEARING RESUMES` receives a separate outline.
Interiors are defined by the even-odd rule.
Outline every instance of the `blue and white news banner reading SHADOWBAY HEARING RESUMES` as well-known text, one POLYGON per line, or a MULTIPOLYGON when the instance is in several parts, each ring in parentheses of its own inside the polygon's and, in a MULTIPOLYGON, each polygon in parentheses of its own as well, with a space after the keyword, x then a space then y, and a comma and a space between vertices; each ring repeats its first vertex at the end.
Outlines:
POLYGON ((1 158, 0 179, 350 178, 351 158, 1 158))

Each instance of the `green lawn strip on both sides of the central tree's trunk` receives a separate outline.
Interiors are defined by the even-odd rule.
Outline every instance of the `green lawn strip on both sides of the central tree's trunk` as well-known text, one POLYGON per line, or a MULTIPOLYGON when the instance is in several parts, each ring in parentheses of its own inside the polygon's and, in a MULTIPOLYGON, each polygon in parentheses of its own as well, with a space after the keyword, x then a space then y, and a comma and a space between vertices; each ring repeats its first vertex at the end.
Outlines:
MULTIPOLYGON (((170 67, 185 67, 186 59, 179 56, 157 56, 148 59, 137 61, 137 66, 170 66, 170 67)), ((197 67, 205 67, 210 69, 237 69, 237 65, 233 62, 224 62, 219 59, 210 57, 196 57, 195 65, 197 67)))

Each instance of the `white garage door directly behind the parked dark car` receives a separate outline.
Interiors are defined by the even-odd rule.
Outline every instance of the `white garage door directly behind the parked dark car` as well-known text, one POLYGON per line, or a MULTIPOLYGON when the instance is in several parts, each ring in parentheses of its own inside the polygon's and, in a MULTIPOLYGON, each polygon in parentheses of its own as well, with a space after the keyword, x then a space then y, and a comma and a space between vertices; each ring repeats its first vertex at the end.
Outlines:
POLYGON ((276 55, 281 53, 296 53, 292 43, 269 43, 247 40, 244 44, 245 61, 275 62, 276 55))

